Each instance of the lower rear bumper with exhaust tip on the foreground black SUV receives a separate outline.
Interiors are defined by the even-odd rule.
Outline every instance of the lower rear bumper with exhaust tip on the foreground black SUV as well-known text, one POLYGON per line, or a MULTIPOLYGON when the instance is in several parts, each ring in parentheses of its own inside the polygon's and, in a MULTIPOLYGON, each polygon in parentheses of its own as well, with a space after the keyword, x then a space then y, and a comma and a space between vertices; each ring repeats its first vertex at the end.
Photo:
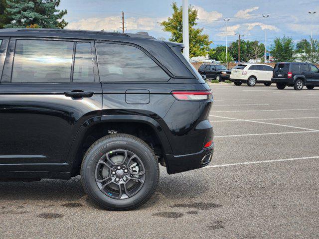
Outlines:
POLYGON ((168 165, 167 172, 169 174, 180 173, 192 169, 207 166, 212 159, 214 153, 214 143, 209 148, 205 148, 197 153, 186 155, 166 155, 168 165))

